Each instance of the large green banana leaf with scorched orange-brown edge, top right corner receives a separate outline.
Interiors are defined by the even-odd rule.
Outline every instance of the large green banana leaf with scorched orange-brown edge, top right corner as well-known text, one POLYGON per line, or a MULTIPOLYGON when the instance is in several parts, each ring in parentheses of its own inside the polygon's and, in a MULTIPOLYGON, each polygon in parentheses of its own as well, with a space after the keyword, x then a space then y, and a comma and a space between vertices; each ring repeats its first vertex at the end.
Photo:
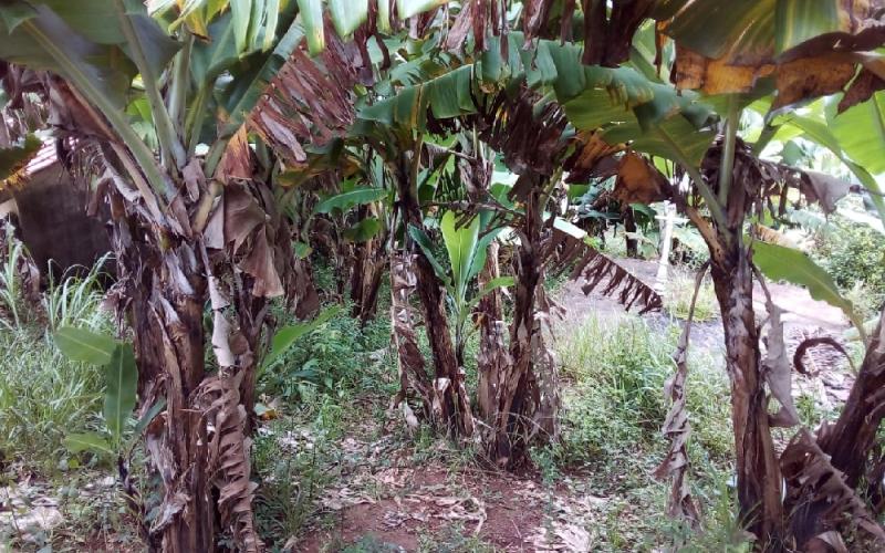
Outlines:
POLYGON ((876 10, 874 2, 840 0, 674 0, 659 2, 654 15, 678 46, 677 86, 747 93, 772 75, 774 107, 782 108, 851 82, 856 61, 832 54, 882 45, 876 10))

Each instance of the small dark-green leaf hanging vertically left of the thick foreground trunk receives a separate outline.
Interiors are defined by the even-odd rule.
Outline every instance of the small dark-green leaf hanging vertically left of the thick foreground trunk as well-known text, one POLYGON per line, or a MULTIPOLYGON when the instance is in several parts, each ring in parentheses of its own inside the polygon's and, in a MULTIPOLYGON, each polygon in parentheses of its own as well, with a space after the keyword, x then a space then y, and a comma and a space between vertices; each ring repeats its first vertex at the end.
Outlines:
POLYGON ((119 440, 137 399, 138 368, 131 345, 117 344, 104 375, 104 422, 114 440, 119 440))

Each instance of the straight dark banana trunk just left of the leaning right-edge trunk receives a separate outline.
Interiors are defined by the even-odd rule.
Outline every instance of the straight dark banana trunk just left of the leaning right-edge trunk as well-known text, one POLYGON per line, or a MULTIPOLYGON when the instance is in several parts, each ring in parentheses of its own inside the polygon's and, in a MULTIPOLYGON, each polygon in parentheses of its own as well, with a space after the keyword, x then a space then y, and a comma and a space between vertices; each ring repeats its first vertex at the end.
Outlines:
MULTIPOLYGON (((726 239, 720 243, 727 243, 726 239)), ((710 273, 722 315, 726 368, 731 380, 738 501, 742 519, 760 543, 777 543, 782 524, 781 474, 760 364, 753 272, 747 250, 737 241, 720 253, 711 255, 710 273)))

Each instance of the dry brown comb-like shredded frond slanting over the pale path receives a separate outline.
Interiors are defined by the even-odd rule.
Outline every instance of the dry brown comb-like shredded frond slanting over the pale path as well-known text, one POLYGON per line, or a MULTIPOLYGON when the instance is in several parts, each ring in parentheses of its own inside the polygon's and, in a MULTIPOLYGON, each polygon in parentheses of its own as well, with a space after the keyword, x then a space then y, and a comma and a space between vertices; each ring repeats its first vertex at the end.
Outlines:
POLYGON ((664 306, 660 295, 652 286, 571 234, 554 229, 548 248, 546 251, 555 255, 560 271, 576 261, 570 279, 583 278, 585 282, 581 290, 585 294, 602 286, 601 293, 616 298, 627 311, 636 305, 641 315, 664 306))

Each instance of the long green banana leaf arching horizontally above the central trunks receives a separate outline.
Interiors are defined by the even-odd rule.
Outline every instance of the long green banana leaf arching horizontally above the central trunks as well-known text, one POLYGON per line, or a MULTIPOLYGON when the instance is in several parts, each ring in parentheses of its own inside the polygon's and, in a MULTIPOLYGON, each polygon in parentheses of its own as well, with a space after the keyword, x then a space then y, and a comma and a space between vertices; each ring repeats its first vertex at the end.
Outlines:
MULTIPOLYGON (((527 50, 521 33, 510 33, 508 40, 507 58, 492 40, 476 63, 403 87, 361 109, 360 119, 424 129, 428 109, 437 118, 475 113, 475 98, 524 84, 551 92, 577 129, 603 127, 611 133, 603 135, 610 144, 633 142, 635 149, 674 159, 677 156, 656 132, 663 126, 683 145, 689 159, 700 161, 714 134, 698 128, 706 126, 712 112, 695 93, 677 94, 632 67, 585 66, 580 48, 573 44, 541 40, 533 50, 527 50)), ((355 132, 368 132, 366 128, 357 126, 355 132)))

